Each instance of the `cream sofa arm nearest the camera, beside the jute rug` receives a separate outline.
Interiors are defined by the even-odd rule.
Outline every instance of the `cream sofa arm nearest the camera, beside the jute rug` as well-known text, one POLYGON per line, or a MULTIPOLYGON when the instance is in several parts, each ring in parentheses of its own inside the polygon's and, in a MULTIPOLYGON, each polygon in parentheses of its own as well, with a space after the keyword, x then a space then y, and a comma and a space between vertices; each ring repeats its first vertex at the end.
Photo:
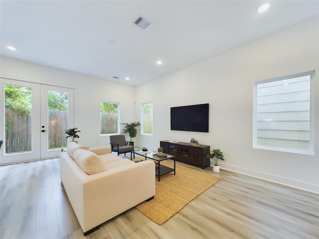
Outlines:
POLYGON ((155 180, 155 163, 151 160, 79 177, 86 219, 83 232, 153 197, 155 180))

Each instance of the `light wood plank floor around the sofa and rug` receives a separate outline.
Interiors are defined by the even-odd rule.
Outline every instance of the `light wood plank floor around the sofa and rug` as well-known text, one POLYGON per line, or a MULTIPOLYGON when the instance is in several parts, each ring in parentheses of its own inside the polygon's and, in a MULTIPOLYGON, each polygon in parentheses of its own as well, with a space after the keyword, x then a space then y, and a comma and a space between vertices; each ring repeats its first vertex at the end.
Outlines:
POLYGON ((1 239, 319 238, 319 195, 211 167, 204 171, 219 182, 163 225, 133 208, 84 237, 58 158, 1 167, 8 168, 0 182, 1 239))

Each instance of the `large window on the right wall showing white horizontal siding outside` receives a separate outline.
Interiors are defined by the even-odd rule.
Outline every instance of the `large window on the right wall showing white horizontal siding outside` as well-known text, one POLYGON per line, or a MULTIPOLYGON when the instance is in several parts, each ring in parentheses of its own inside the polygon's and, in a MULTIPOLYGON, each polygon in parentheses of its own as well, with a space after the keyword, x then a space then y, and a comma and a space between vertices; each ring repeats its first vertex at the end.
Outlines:
POLYGON ((314 155, 314 76, 254 83, 254 148, 314 155))

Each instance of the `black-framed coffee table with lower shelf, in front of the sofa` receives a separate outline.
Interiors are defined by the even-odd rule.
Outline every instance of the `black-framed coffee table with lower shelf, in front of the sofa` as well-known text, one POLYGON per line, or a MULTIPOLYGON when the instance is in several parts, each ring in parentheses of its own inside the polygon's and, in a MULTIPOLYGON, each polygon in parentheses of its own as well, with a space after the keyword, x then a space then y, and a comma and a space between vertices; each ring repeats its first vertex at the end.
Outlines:
POLYGON ((159 176, 159 181, 160 181, 160 176, 166 173, 174 172, 174 175, 175 175, 175 172, 176 172, 175 171, 175 156, 163 153, 163 157, 161 157, 161 156, 157 156, 158 154, 157 151, 149 151, 148 153, 144 153, 144 152, 141 152, 141 150, 135 150, 135 151, 131 151, 131 160, 132 160, 132 154, 134 157, 135 157, 135 154, 138 154, 140 156, 145 157, 145 160, 152 159, 154 161, 157 161, 159 163, 159 166, 156 167, 155 174, 159 176), (161 161, 164 161, 167 159, 174 160, 174 168, 170 168, 160 164, 161 161))

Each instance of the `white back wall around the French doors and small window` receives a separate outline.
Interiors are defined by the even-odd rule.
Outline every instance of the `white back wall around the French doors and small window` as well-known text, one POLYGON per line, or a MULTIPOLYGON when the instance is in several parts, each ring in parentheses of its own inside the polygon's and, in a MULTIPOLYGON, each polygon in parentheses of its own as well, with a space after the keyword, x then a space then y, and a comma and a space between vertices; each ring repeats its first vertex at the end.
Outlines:
POLYGON ((74 126, 81 130, 79 143, 88 147, 110 145, 109 136, 100 136, 100 101, 119 102, 121 122, 136 117, 133 86, 6 57, 1 57, 0 70, 2 78, 76 89, 74 126))

